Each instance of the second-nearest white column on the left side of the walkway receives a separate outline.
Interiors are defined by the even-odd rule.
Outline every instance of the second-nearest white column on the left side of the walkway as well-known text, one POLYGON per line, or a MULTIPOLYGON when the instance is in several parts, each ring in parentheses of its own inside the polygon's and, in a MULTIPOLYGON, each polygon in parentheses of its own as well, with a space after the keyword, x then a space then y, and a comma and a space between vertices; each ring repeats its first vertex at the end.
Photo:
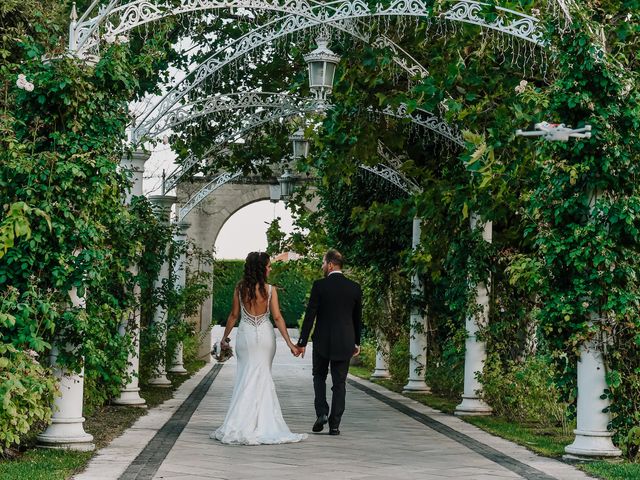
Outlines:
MULTIPOLYGON (((122 168, 131 172, 133 184, 131 189, 127 191, 125 204, 130 205, 133 197, 142 196, 142 177, 144 173, 144 164, 150 155, 141 150, 137 150, 131 154, 131 157, 123 158, 120 161, 122 168)), ((129 270, 132 275, 137 275, 137 266, 132 266, 129 270)), ((120 335, 126 335, 127 330, 131 335, 133 348, 129 353, 127 376, 129 382, 123 385, 120 390, 120 396, 113 399, 115 405, 135 405, 144 407, 146 401, 140 397, 140 387, 138 386, 139 370, 140 370, 140 286, 134 287, 135 306, 131 311, 131 317, 128 321, 124 321, 120 325, 120 335)))

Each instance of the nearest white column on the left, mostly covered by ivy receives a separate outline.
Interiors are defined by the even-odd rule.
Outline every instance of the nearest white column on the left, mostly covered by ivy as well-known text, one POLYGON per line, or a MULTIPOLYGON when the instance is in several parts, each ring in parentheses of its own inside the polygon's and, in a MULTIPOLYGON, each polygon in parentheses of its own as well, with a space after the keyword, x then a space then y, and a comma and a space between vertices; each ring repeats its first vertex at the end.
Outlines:
MULTIPOLYGON (((69 291, 71 303, 76 308, 85 308, 83 298, 78 297, 76 287, 69 291)), ((60 396, 53 401, 51 425, 38 435, 38 446, 89 452, 95 449, 93 436, 84 431, 82 401, 84 391, 84 368, 79 373, 71 373, 57 365, 58 346, 51 349, 50 363, 53 374, 58 379, 60 396)), ((72 345, 67 346, 73 349, 72 345)))

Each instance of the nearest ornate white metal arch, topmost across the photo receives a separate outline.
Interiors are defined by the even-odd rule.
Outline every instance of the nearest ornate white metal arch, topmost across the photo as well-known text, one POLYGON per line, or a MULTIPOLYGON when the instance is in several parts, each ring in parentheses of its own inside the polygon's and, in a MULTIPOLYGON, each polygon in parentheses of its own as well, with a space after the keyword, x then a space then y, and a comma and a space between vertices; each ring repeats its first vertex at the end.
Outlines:
MULTIPOLYGON (((100 10, 94 18, 86 20, 88 13, 70 27, 70 47, 76 51, 88 51, 98 43, 96 32, 104 25, 105 37, 116 38, 135 27, 169 16, 183 13, 242 8, 246 10, 276 11, 315 19, 327 23, 354 18, 382 16, 412 16, 433 18, 433 12, 425 0, 394 0, 390 5, 377 3, 367 5, 363 0, 337 0, 328 3, 312 3, 306 0, 166 0, 154 3, 151 0, 135 0, 119 7, 112 1, 100 10)), ((515 10, 493 7, 474 0, 457 0, 450 9, 438 14, 440 18, 462 23, 480 25, 484 28, 513 35, 522 40, 543 45, 542 32, 538 29, 538 19, 515 10), (485 8, 498 11, 494 20, 487 21, 481 16, 485 8)))

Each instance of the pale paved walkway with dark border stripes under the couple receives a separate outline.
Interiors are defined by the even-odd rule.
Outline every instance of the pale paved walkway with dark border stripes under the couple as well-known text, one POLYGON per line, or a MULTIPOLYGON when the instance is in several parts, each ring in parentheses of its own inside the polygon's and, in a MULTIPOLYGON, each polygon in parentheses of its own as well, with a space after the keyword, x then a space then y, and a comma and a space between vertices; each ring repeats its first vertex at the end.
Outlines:
MULTIPOLYGON (((209 439, 223 421, 235 359, 204 368, 176 397, 101 450, 76 480, 133 479, 517 479, 590 478, 370 382, 350 378, 338 437, 228 446, 209 439)), ((310 432, 315 419, 311 351, 291 356, 282 340, 273 365, 285 420, 310 432)))

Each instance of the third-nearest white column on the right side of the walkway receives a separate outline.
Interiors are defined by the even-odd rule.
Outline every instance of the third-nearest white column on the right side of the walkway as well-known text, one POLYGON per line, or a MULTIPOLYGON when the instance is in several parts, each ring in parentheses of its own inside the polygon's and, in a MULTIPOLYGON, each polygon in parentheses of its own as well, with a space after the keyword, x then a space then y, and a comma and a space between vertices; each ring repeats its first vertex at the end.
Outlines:
MULTIPOLYGON (((421 235, 420 219, 413 219, 412 246, 415 250, 420 244, 421 235)), ((418 274, 411 277, 411 294, 413 297, 422 296, 422 282, 418 274)), ((409 378, 404 386, 406 392, 429 392, 431 389, 424 381, 425 368, 427 366, 427 316, 416 304, 412 302, 409 332, 409 378)))

